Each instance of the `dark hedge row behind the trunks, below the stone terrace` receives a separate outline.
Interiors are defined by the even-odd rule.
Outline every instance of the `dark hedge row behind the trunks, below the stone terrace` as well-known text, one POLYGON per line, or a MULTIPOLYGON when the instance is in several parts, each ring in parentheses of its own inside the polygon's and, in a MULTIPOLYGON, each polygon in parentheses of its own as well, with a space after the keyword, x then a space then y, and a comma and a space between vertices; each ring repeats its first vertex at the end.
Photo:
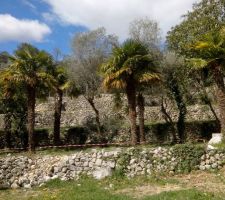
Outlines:
MULTIPOLYGON (((202 140, 211 139, 212 133, 218 132, 216 121, 192 121, 186 122, 186 136, 187 141, 197 142, 202 140)), ((125 142, 130 140, 129 127, 117 127, 118 130, 123 130, 122 134, 125 142)), ((147 143, 163 144, 170 142, 171 138, 171 125, 167 123, 154 123, 145 126, 147 143)), ((86 127, 62 127, 61 139, 63 144, 85 144, 90 133, 86 127)), ((118 134, 115 133, 113 138, 109 137, 110 131, 104 133, 106 142, 115 141, 118 134), (114 138, 115 137, 115 138, 114 138), (108 138, 108 139, 107 139, 108 138), (114 139, 114 140, 113 140, 114 139)), ((13 133, 12 134, 12 147, 26 147, 27 146, 27 133, 13 133)), ((0 148, 4 147, 4 131, 0 130, 0 148)), ((51 128, 43 128, 35 130, 35 144, 36 146, 47 146, 53 144, 53 134, 51 128)))

